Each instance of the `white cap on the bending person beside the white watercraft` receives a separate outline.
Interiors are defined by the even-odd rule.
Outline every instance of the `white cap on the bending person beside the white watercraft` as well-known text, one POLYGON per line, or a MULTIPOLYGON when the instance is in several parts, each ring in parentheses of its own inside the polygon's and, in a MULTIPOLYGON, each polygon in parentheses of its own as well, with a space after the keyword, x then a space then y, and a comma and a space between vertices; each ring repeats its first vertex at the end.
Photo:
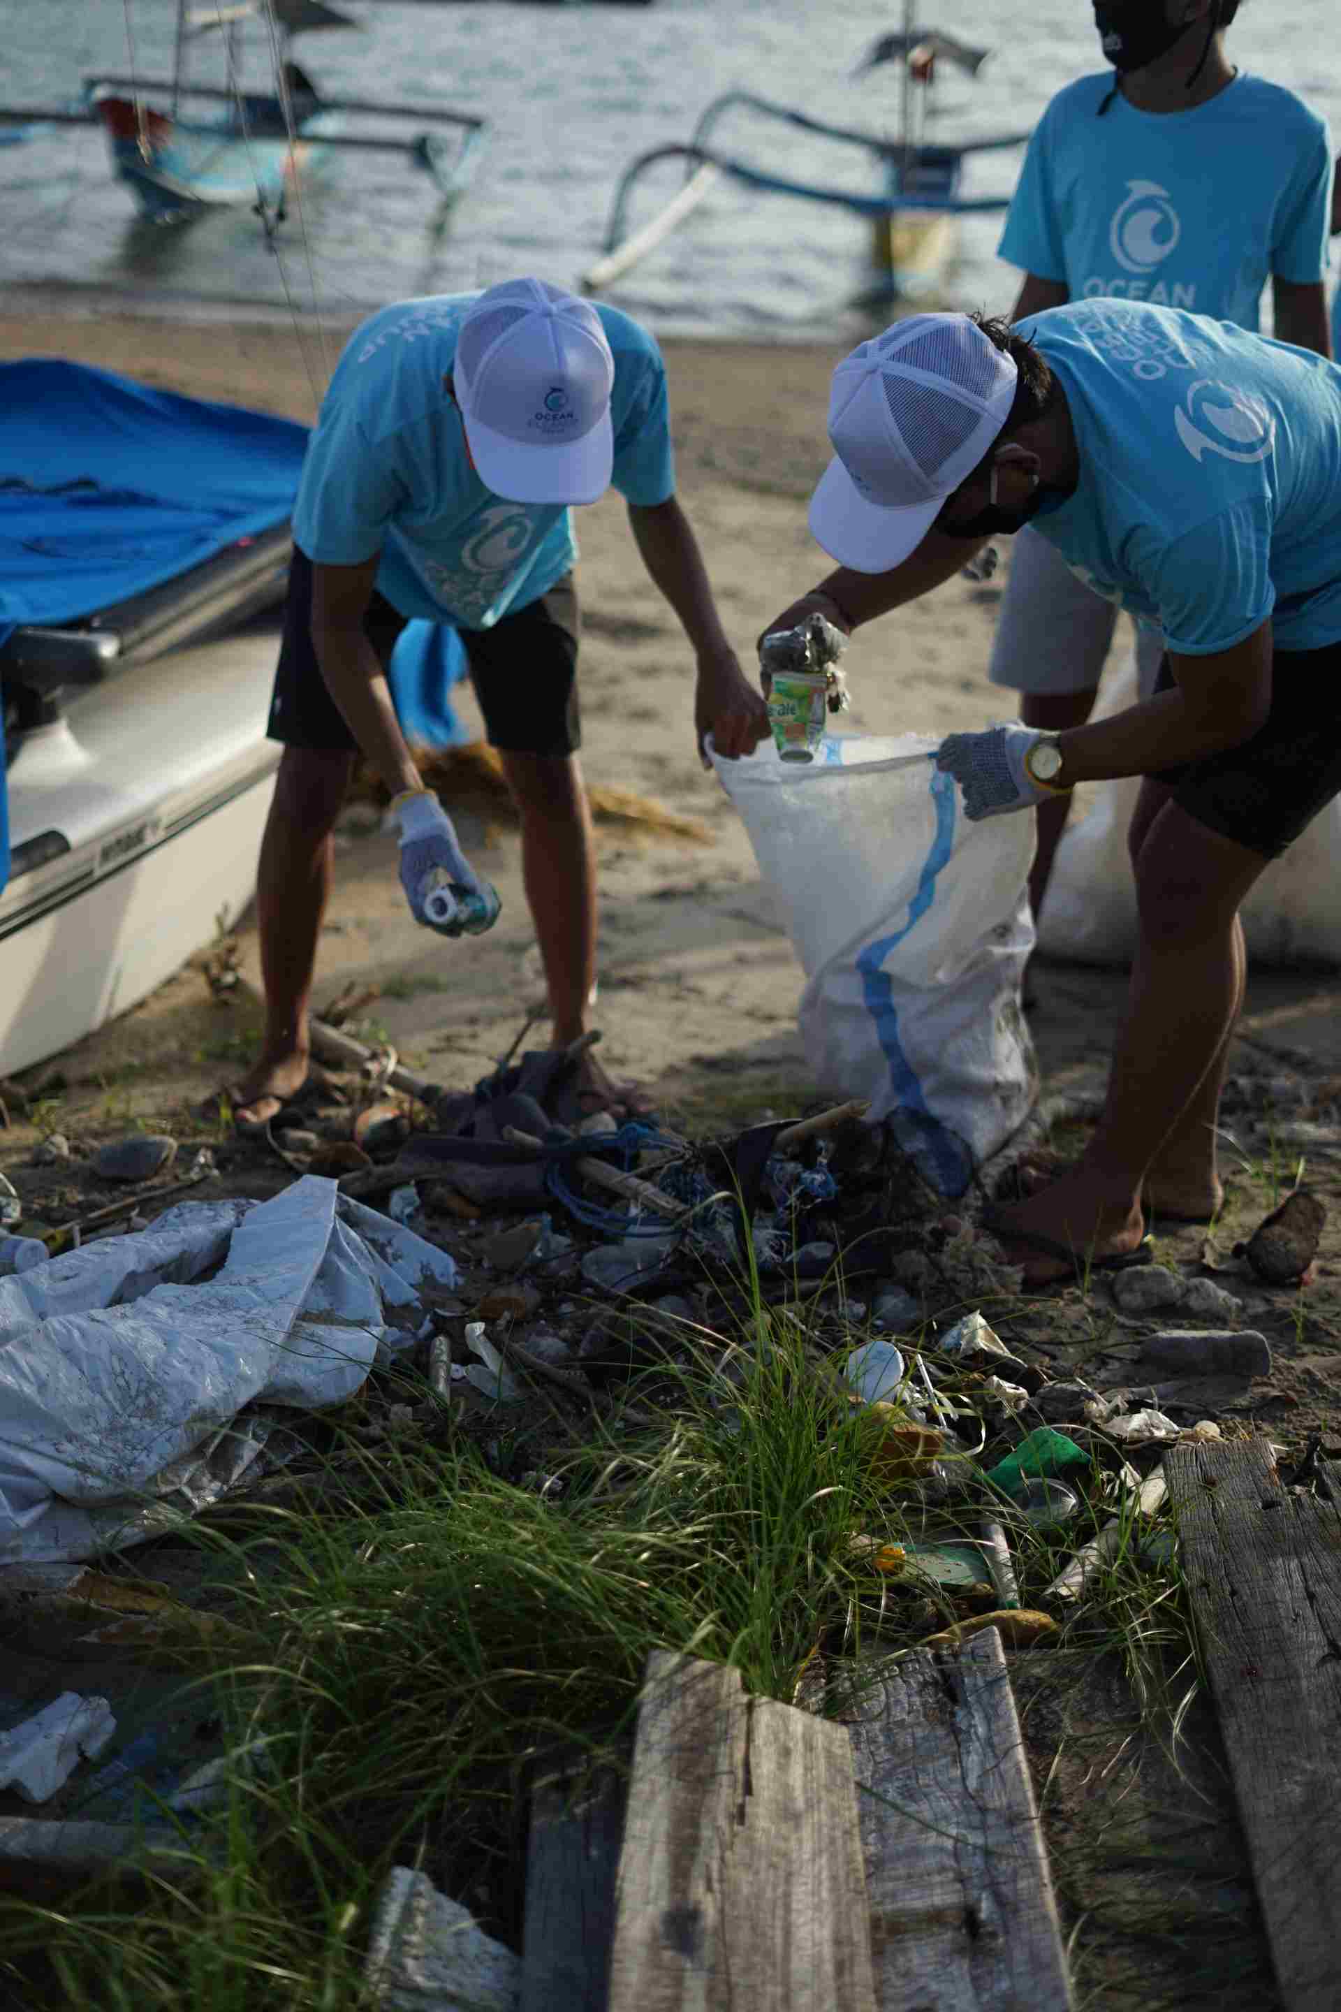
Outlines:
POLYGON ((605 495, 615 358, 585 300, 545 280, 491 286, 460 324, 452 380, 487 489, 515 503, 605 495))

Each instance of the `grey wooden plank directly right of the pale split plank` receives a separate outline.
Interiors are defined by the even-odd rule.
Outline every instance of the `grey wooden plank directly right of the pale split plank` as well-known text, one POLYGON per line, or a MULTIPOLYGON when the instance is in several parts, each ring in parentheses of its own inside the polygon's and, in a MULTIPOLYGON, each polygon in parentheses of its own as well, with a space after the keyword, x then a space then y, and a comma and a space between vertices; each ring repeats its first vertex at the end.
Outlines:
POLYGON ((848 1712, 881 2012, 1068 2012, 1058 1907, 995 1628, 871 1672, 848 1712))

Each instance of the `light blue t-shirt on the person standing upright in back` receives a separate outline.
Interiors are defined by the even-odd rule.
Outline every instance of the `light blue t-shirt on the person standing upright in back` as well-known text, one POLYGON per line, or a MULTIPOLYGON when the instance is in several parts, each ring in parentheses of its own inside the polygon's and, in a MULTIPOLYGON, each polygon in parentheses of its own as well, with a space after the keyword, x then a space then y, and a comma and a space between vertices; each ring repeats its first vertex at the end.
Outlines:
POLYGON ((999 256, 1072 300, 1148 300, 1259 326, 1269 278, 1327 272, 1331 139, 1293 91, 1238 74, 1142 113, 1114 72, 1060 91, 1029 141, 999 256))

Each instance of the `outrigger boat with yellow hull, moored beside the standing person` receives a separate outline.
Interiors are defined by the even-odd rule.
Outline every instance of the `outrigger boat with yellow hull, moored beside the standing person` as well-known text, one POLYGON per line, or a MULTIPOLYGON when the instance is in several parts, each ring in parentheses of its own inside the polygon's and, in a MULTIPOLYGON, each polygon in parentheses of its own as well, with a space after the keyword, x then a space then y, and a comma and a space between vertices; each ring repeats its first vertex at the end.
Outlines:
POLYGON ((933 290, 949 260, 953 219, 973 211, 1005 209, 1009 203, 1007 195, 965 195, 965 159, 973 153, 1021 147, 1029 137, 1027 133, 1001 133, 955 143, 929 139, 931 87, 937 64, 949 64, 967 76, 977 76, 987 54, 989 50, 971 48, 939 30, 915 26, 913 0, 905 0, 903 30, 875 42, 856 66, 856 74, 863 74, 885 62, 903 64, 901 117, 893 135, 828 125, 790 105, 756 97, 752 91, 726 91, 708 105, 688 141, 651 147, 623 171, 611 203, 603 258, 583 274, 583 290, 597 294, 629 272, 663 243, 722 179, 758 193, 830 203, 869 217, 871 276, 856 296, 858 304, 885 306, 933 290), (770 165, 758 165, 740 153, 724 151, 718 127, 738 113, 863 149, 875 159, 879 185, 850 189, 796 181, 778 175, 770 165), (631 229, 633 191, 643 175, 661 161, 684 161, 686 181, 661 211, 639 229, 631 229))

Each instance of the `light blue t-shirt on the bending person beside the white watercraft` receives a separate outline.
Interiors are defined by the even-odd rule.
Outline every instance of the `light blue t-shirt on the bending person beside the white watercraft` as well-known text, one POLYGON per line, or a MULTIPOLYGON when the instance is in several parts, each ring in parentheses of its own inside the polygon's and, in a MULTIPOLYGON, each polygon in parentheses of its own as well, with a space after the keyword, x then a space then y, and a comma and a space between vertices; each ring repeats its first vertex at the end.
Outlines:
MULTIPOLYGON (((378 588, 402 616, 487 630, 547 594, 577 561, 571 511, 509 503, 483 485, 442 378, 476 294, 384 308, 354 332, 330 380, 294 509, 318 565, 382 551, 378 588)), ((676 489, 665 366, 651 336, 597 308, 615 358, 613 485, 635 505, 676 489)))

